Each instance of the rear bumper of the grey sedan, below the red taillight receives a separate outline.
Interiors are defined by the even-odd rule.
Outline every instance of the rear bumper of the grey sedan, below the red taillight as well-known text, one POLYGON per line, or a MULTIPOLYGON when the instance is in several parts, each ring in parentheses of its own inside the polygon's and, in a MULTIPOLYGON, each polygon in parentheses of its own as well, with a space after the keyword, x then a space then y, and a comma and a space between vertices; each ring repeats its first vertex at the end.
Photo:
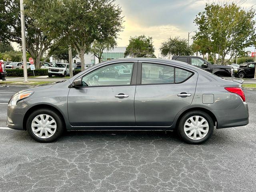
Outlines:
POLYGON ((212 110, 217 119, 217 129, 244 126, 249 123, 249 111, 246 102, 236 109, 212 110))

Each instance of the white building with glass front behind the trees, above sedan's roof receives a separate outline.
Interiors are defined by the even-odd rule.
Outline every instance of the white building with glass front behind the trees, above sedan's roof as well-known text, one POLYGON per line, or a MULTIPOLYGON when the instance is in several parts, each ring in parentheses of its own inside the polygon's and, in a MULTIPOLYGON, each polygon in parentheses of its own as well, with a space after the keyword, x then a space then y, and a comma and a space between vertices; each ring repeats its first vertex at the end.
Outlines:
MULTIPOLYGON (((114 47, 112 50, 104 50, 102 53, 102 61, 124 58, 124 52, 126 47, 114 47)), ((76 56, 72 59, 72 62, 81 62, 80 58, 76 56)), ((94 54, 84 54, 84 64, 97 64, 99 59, 94 54)))

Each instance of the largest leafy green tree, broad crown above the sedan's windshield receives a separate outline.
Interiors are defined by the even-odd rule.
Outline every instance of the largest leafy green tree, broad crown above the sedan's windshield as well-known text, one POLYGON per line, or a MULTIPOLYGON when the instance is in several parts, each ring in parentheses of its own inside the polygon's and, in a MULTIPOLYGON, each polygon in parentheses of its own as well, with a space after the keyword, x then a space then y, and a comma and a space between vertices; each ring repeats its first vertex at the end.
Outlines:
POLYGON ((76 49, 84 70, 84 54, 94 40, 116 38, 123 28, 120 6, 114 0, 25 0, 26 13, 52 39, 65 38, 76 49), (43 13, 43 14, 38 14, 43 13))

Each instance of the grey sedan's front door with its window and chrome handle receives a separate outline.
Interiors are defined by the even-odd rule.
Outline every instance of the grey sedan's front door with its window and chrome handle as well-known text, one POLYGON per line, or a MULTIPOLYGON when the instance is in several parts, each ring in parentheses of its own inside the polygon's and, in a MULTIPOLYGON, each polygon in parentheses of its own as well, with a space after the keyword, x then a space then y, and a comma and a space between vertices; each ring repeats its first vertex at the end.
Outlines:
MULTIPOLYGON (((137 62, 118 62, 97 68, 82 77, 81 88, 70 88, 68 94, 68 118, 75 127, 135 126, 132 70, 137 62), (120 76, 110 75, 113 68, 128 65, 129 72, 117 71, 120 76)), ((136 67, 134 67, 136 66, 136 67)), ((128 68, 125 68, 128 70, 128 68)), ((136 76, 136 73, 134 73, 136 76)), ((76 128, 77 129, 77 128, 76 128)))

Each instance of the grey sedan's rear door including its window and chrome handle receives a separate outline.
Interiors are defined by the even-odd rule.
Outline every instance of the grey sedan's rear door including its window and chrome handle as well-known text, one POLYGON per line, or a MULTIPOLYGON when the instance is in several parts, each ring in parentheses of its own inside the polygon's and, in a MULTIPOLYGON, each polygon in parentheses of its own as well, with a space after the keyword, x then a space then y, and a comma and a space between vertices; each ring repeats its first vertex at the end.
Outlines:
POLYGON ((136 126, 171 126, 192 103, 198 74, 160 62, 139 62, 135 92, 136 126))

